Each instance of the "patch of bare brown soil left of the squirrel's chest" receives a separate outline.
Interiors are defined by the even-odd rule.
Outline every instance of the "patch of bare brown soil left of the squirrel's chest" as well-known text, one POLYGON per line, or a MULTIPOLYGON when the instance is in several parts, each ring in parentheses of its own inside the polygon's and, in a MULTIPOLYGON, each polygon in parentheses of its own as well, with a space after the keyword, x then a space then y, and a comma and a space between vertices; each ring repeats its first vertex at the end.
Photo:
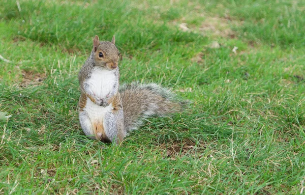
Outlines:
POLYGON ((25 88, 27 86, 38 86, 42 84, 42 81, 46 78, 46 75, 43 73, 37 73, 32 70, 22 70, 22 81, 20 87, 25 88))

